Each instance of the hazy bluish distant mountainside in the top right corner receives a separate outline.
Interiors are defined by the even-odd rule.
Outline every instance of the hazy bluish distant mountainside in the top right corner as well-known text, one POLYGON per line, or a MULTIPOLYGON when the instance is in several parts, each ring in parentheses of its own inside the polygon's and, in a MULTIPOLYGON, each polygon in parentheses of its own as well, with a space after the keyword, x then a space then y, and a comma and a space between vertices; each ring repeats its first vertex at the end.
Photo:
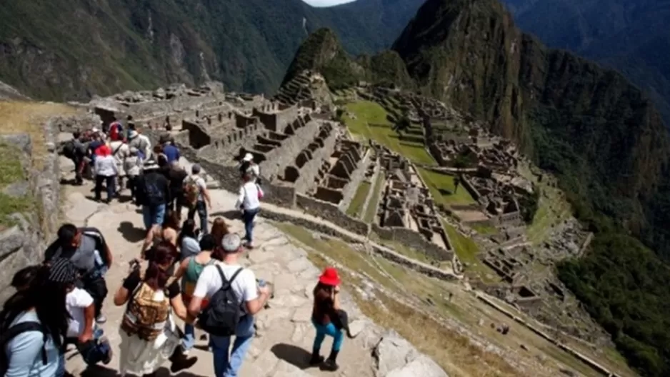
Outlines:
POLYGON ((670 1, 504 0, 519 27, 547 46, 621 71, 670 124, 670 1))

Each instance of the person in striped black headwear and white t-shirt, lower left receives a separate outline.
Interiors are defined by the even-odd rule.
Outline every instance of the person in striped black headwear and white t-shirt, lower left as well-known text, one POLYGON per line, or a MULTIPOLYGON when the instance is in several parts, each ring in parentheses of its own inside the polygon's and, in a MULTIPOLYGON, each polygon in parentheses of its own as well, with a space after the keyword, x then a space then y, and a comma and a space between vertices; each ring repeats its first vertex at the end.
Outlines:
MULTIPOLYGON (((109 364, 111 361, 111 346, 104 331, 95 323, 95 304, 93 297, 76 287, 77 270, 74 264, 66 258, 59 258, 51 266, 51 274, 56 273, 59 268, 59 281, 64 284, 67 291, 65 298, 66 308, 70 314, 69 325, 66 333, 66 344, 76 345, 79 355, 87 365, 95 365, 99 362, 109 364)), ((61 350, 61 371, 65 370, 65 349, 61 350)), ((64 374, 64 373, 59 373, 64 374)))

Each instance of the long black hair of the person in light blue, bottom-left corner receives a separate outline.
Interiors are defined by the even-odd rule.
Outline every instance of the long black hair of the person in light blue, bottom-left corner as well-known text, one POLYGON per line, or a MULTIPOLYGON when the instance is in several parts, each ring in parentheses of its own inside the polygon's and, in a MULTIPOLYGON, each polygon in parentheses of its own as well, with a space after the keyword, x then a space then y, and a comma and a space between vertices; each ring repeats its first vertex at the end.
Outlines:
POLYGON ((5 301, 0 312, 0 329, 6 331, 17 316, 34 310, 44 331, 56 346, 63 344, 70 314, 65 304, 68 284, 49 281, 49 266, 39 266, 30 285, 5 301))

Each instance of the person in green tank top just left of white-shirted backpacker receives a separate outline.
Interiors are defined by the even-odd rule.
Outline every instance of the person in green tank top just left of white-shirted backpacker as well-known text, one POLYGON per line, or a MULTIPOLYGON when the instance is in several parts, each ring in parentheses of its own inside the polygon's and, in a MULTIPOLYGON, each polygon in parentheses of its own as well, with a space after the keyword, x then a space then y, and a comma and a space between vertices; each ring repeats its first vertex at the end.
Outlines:
MULTIPOLYGON (((223 261, 224 259, 223 253, 218 251, 219 248, 217 248, 215 255, 215 246, 216 243, 214 243, 214 237, 211 234, 203 236, 198 246, 199 250, 202 251, 184 258, 179 265, 179 269, 174 274, 175 278, 181 278, 181 297, 184 299, 184 305, 186 305, 187 308, 191 303, 196 283, 205 266, 209 266, 216 260, 223 261)), ((206 306, 207 301, 204 299, 201 303, 201 307, 204 308, 206 306)), ((184 351, 190 351, 191 348, 193 348, 194 343, 195 328, 193 325, 186 323, 186 325, 184 325, 184 338, 181 338, 181 346, 184 347, 184 351)))

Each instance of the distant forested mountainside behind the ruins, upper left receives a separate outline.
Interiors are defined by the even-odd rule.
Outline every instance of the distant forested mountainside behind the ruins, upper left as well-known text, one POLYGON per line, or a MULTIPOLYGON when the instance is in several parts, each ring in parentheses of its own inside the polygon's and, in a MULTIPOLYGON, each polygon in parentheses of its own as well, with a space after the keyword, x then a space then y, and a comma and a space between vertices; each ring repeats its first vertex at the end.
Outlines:
POLYGON ((420 0, 6 1, 0 80, 36 99, 84 99, 209 79, 271 93, 310 31, 328 26, 352 54, 389 46, 420 0))

